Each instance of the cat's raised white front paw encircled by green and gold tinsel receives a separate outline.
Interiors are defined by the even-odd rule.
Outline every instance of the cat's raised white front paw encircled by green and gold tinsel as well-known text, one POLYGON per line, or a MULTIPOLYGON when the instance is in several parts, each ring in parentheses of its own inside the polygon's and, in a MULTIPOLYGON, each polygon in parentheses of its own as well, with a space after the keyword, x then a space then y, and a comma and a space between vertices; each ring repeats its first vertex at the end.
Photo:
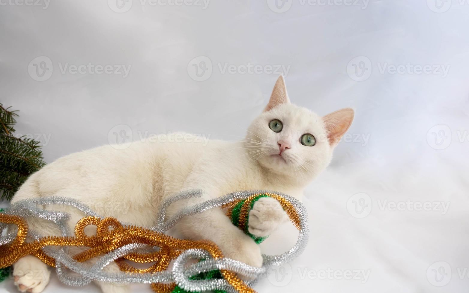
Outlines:
POLYGON ((257 237, 269 236, 287 219, 287 214, 277 200, 262 197, 249 212, 248 231, 257 237))

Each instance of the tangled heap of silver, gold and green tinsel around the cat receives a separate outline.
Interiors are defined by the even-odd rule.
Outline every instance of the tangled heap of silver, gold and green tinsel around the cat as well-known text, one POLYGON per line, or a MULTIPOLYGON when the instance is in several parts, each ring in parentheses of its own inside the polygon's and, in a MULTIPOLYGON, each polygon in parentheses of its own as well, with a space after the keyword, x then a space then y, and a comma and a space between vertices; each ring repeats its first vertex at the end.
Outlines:
POLYGON ((285 194, 263 191, 230 193, 184 208, 165 221, 166 208, 171 203, 199 197, 201 194, 201 191, 192 190, 163 202, 159 210, 158 224, 151 229, 121 224, 114 218, 100 217, 81 202, 69 198, 47 197, 17 201, 8 207, 5 213, 0 214, 0 232, 3 232, 7 224, 15 224, 18 227, 17 231, 0 237, 0 267, 11 265, 19 258, 32 254, 46 264, 54 266, 59 279, 71 286, 83 286, 92 280, 99 280, 111 283, 147 283, 151 284, 156 292, 171 292, 176 286, 189 292, 210 290, 254 292, 251 287, 269 273, 272 265, 281 265, 303 252, 308 239, 306 210, 298 200, 285 194), (299 236, 295 246, 287 252, 276 256, 263 255, 264 262, 261 268, 224 258, 218 247, 209 241, 181 240, 164 234, 182 217, 202 213, 213 207, 226 207, 232 214, 236 211, 239 213, 238 227, 246 229, 253 200, 265 195, 279 200, 299 229, 299 236), (46 205, 67 205, 87 215, 77 223, 75 237, 72 237, 68 229, 67 221, 70 215, 66 212, 45 210, 46 205), (28 229, 25 217, 38 217, 54 222, 61 229, 62 236, 38 235, 32 229, 28 229), (87 225, 98 227, 96 236, 84 234, 83 229, 87 225), (32 237, 34 242, 26 242, 26 236, 32 237), (72 256, 68 253, 69 246, 85 246, 89 249, 72 256), (159 249, 155 250, 155 247, 159 249), (146 251, 142 252, 142 249, 146 251), (102 254, 104 256, 98 257, 102 254), (83 263, 91 258, 96 260, 94 264, 83 263), (155 264, 147 269, 137 269, 126 263, 126 259, 155 264), (168 264, 172 259, 174 259, 173 267, 168 270, 168 264), (204 261, 186 265, 190 259, 204 259, 204 261), (103 268, 112 261, 116 261, 123 272, 103 271, 103 268), (223 279, 215 278, 218 271, 223 279), (204 274, 212 278, 204 278, 204 274), (253 279, 242 282, 237 274, 253 279))

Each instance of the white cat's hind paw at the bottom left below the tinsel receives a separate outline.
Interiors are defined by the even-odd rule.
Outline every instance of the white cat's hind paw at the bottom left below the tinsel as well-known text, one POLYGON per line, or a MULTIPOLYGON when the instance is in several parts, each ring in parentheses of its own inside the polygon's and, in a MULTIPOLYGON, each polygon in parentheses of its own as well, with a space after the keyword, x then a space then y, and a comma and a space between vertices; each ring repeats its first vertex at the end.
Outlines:
POLYGON ((13 264, 13 277, 20 292, 42 292, 49 283, 50 275, 47 265, 37 257, 28 255, 13 264))

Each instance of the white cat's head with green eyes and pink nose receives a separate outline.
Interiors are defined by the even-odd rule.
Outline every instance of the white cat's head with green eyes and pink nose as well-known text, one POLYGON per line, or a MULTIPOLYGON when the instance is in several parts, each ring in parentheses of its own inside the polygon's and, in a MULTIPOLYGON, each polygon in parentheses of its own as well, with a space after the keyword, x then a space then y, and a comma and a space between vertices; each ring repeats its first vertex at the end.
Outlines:
POLYGON ((353 109, 344 108, 319 116, 295 106, 280 76, 264 112, 248 129, 248 157, 273 173, 309 182, 331 161, 333 149, 352 124, 354 114, 353 109))

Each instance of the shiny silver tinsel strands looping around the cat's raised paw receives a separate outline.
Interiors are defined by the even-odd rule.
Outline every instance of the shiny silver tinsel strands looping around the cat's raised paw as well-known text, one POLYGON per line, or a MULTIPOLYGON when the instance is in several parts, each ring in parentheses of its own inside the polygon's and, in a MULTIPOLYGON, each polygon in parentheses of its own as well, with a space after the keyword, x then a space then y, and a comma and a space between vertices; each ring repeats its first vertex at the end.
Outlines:
MULTIPOLYGON (((173 202, 183 199, 189 199, 194 197, 201 197, 203 192, 201 190, 189 190, 184 193, 176 194, 168 200, 165 200, 158 213, 158 222, 155 227, 150 229, 165 233, 168 229, 171 229, 182 217, 187 215, 193 215, 202 213, 205 210, 221 207, 233 200, 243 200, 257 193, 275 193, 286 200, 288 200, 296 209, 296 212, 300 218, 300 230, 298 240, 295 245, 285 253, 280 255, 263 255, 264 262, 261 268, 252 267, 248 264, 236 261, 234 259, 222 258, 215 260, 211 255, 202 249, 189 249, 184 251, 174 261, 171 270, 157 273, 125 273, 125 272, 106 272, 103 269, 106 265, 113 262, 115 259, 127 255, 132 252, 137 252, 143 248, 148 248, 146 244, 133 243, 125 245, 121 248, 113 250, 107 253, 103 257, 97 259, 94 264, 79 263, 73 259, 68 253, 67 248, 57 247, 45 247, 44 252, 53 257, 56 260, 56 272, 64 284, 70 286, 83 286, 89 284, 93 280, 109 282, 109 283, 171 283, 176 284, 186 291, 198 291, 204 292, 209 290, 224 290, 227 292, 236 292, 234 288, 227 283, 225 279, 205 279, 205 280, 191 280, 190 276, 196 275, 200 272, 209 272, 218 269, 226 269, 239 274, 242 274, 251 280, 246 281, 248 286, 254 286, 257 281, 264 278, 270 271, 272 266, 278 266, 286 262, 291 261, 299 254, 303 252, 308 242, 308 216, 305 207, 300 203, 299 200, 283 193, 276 193, 272 191, 241 191, 234 192, 224 195, 222 197, 207 200, 202 203, 196 204, 192 207, 183 208, 179 213, 174 215, 172 218, 165 221, 166 209, 173 202), (187 265, 191 259, 201 259, 204 261, 196 264, 187 265)), ((68 226, 68 220, 70 214, 67 212, 45 210, 44 207, 47 205, 63 205, 75 207, 76 209, 83 212, 88 216, 96 216, 103 218, 93 212, 89 207, 81 203, 79 200, 64 198, 64 197, 45 197, 45 198, 34 198, 28 200, 19 200, 11 204, 10 207, 4 210, 6 214, 18 215, 22 217, 38 217, 55 223, 61 230, 62 236, 73 236, 68 226)), ((124 226, 125 223, 122 223, 124 226)), ((6 228, 5 224, 0 223, 0 235, 1 232, 6 228)), ((0 237, 0 245, 10 243, 15 239, 16 231, 8 233, 5 236, 0 237)), ((29 229, 28 236, 38 239, 39 237, 47 235, 39 235, 36 231, 29 229)))

